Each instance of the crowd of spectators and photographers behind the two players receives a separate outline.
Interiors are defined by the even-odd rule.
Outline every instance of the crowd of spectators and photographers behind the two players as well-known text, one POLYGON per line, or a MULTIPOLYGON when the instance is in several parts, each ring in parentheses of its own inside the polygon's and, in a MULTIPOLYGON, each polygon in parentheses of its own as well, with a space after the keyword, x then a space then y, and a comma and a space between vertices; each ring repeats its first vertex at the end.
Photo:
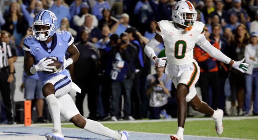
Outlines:
MULTIPOLYGON (((196 45, 194 58, 201 70, 198 85, 202 100, 214 110, 222 109, 225 115, 258 115, 258 0, 190 1, 197 11, 197 21, 205 23, 207 40, 233 60, 245 58, 250 64, 243 74, 216 61, 196 45), (231 101, 229 112, 225 111, 226 99, 231 101)), ((157 21, 172 20, 175 3, 175 0, 1 0, 1 42, 10 47, 15 63, 17 56, 24 56, 23 39, 33 35, 31 23, 35 15, 48 9, 57 16, 57 31, 69 31, 80 52, 69 71, 72 81, 82 89, 75 100, 82 115, 84 97, 88 94, 92 120, 176 117, 171 79, 164 74, 164 68, 156 67, 156 74, 150 74, 155 65, 143 52, 145 44, 156 34, 157 21), (118 41, 121 45, 117 45, 118 41)), ((160 44, 154 51, 158 57, 165 57, 164 49, 164 44, 160 44)), ((3 49, 0 57, 4 57, 2 52, 3 49)), ((12 79, 8 86, 3 86, 7 80, 0 78, 1 94, 5 95, 0 104, 5 105, 8 114, 12 112, 8 111, 10 104, 15 108, 15 70, 12 72, 1 63, 0 72, 9 69, 7 77, 12 79)), ((26 100, 35 101, 38 122, 45 122, 44 97, 37 74, 30 77, 24 74, 21 88, 25 88, 26 100)), ((9 124, 14 123, 13 117, 9 117, 9 124)))

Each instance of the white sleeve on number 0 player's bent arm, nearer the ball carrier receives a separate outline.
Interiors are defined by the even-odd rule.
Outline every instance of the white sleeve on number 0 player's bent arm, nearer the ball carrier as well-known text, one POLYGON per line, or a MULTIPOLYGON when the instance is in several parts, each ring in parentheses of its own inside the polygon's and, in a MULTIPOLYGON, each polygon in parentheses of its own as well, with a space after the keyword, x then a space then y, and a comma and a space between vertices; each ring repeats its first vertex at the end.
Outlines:
MULTIPOLYGON (((150 41, 145 45, 144 47, 144 52, 145 54, 149 57, 149 58, 153 58, 154 56, 156 56, 153 48, 155 48, 156 46, 158 46, 160 44, 160 42, 158 42, 155 37, 152 37, 150 39, 150 41)), ((157 57, 157 56, 156 56, 157 57)))

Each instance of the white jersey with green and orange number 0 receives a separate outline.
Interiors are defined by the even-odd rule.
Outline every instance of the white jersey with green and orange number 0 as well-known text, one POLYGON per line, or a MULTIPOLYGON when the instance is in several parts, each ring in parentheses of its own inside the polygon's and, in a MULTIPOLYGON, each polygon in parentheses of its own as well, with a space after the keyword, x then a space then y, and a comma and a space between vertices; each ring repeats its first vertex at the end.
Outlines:
POLYGON ((184 31, 177 29, 174 21, 162 20, 156 33, 163 38, 168 63, 184 65, 194 62, 193 48, 198 38, 204 36, 204 24, 196 21, 190 31, 184 31))

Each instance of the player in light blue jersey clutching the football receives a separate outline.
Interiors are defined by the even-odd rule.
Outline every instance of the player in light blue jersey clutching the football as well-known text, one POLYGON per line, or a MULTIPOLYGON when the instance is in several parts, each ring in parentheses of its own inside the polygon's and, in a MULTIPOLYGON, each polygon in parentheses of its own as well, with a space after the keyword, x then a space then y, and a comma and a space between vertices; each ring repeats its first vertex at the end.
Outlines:
POLYGON ((73 44, 71 33, 56 32, 57 26, 57 17, 53 12, 48 10, 39 12, 32 23, 33 36, 26 37, 23 44, 25 50, 24 71, 27 76, 38 73, 44 85, 43 95, 54 123, 53 132, 46 133, 45 137, 48 140, 64 140, 61 132, 61 114, 75 126, 87 131, 116 140, 128 140, 129 135, 126 131, 113 131, 97 121, 83 118, 79 113, 68 93, 76 95, 76 92, 80 92, 80 88, 71 81, 71 77, 65 69, 78 59, 79 51, 73 44), (70 54, 70 58, 67 60, 65 59, 66 52, 70 54), (54 66, 48 66, 53 61, 47 58, 59 61, 62 64, 59 70, 53 72, 54 66), (45 74, 42 71, 53 73, 45 74))

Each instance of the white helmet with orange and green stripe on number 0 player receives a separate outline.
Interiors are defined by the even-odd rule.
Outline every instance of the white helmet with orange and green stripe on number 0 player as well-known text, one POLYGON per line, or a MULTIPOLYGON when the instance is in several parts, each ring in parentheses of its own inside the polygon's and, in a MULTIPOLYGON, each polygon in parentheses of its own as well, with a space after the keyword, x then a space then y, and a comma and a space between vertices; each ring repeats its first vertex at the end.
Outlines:
POLYGON ((195 24, 195 21, 197 19, 197 11, 195 11, 195 8, 193 7, 193 4, 191 2, 185 0, 178 1, 172 8, 172 19, 178 24, 186 27, 191 27, 195 24), (192 14, 192 19, 186 18, 187 13, 192 14), (187 20, 189 22, 186 22, 187 20))

